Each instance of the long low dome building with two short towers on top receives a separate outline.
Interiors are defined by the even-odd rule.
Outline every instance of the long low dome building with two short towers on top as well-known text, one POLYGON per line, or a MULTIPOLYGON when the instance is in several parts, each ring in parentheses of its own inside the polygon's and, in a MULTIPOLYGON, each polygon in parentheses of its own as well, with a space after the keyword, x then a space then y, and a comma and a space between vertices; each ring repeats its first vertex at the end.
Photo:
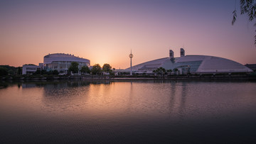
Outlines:
MULTIPOLYGON (((174 52, 170 50, 170 57, 151 60, 132 67, 137 73, 152 73, 159 67, 165 70, 178 69, 180 74, 191 73, 231 73, 231 72, 252 72, 244 65, 222 57, 207 55, 186 55, 181 48, 181 57, 174 57, 174 52)), ((127 69, 128 70, 128 69, 127 69)))

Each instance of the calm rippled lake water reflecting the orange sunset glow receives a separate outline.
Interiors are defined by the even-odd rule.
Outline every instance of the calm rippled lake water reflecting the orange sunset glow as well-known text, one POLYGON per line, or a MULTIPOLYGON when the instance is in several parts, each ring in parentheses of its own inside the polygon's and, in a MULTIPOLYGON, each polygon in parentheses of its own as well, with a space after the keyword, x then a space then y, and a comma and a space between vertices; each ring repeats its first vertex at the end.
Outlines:
POLYGON ((0 143, 256 143, 256 82, 1 85, 0 143))

